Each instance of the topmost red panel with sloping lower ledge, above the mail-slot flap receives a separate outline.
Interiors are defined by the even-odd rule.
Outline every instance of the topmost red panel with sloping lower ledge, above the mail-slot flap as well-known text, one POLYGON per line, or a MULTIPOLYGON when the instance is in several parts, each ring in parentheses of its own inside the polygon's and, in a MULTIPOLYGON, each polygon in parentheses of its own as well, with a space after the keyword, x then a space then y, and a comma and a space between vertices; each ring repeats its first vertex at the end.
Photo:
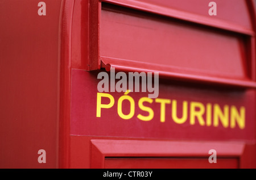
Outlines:
POLYGON ((139 9, 155 14, 190 20, 213 27, 224 28, 245 34, 253 33, 253 19, 250 17, 252 0, 216 0, 217 15, 209 16, 210 1, 205 0, 102 0, 133 9, 139 9))

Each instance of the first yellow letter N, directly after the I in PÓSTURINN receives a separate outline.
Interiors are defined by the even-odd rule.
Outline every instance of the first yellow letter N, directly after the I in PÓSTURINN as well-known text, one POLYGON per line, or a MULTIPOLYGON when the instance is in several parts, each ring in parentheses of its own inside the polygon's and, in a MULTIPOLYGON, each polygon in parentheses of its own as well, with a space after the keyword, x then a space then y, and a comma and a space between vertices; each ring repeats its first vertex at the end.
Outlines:
POLYGON ((222 112, 220 106, 218 104, 214 104, 213 106, 213 125, 214 127, 218 127, 219 119, 223 125, 223 127, 228 128, 229 126, 229 106, 224 106, 224 113, 222 112))

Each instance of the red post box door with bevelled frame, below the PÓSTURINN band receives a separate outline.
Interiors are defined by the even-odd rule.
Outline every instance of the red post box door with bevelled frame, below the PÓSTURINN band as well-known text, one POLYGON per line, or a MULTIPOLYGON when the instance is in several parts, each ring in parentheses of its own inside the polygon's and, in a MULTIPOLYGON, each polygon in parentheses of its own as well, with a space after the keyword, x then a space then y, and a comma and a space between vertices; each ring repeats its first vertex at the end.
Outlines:
POLYGON ((223 142, 91 140, 91 168, 239 168, 244 145, 223 142), (216 161, 209 150, 216 150, 216 161))

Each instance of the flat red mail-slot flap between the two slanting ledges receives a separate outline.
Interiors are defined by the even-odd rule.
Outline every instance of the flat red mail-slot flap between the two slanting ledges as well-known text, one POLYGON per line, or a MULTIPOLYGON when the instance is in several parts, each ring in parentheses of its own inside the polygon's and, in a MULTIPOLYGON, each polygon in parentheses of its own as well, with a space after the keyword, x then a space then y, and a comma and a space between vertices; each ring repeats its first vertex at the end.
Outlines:
POLYGON ((190 74, 249 78, 247 36, 102 5, 101 56, 190 74))

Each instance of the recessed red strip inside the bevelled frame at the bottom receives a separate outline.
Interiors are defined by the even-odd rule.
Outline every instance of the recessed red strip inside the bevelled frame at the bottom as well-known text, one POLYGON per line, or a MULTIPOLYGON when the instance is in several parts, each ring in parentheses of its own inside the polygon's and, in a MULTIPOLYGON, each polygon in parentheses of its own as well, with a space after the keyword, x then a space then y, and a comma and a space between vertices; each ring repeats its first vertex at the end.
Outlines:
POLYGON ((212 164, 208 158, 105 158, 106 169, 234 169, 238 163, 238 158, 217 158, 212 164))

